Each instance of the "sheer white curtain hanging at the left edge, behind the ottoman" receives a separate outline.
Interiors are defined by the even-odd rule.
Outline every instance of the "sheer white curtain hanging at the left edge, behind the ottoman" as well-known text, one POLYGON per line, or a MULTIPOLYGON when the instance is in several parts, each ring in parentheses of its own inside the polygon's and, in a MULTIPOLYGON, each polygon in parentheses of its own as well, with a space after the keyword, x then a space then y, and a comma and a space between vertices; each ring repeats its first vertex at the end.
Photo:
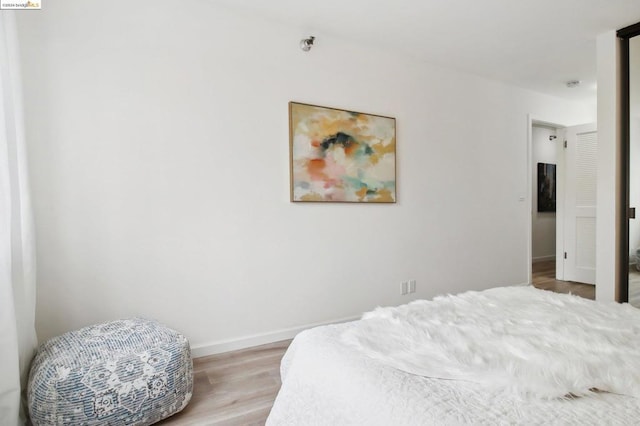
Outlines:
POLYGON ((14 12, 0 13, 0 425, 24 423, 36 346, 35 247, 14 12))

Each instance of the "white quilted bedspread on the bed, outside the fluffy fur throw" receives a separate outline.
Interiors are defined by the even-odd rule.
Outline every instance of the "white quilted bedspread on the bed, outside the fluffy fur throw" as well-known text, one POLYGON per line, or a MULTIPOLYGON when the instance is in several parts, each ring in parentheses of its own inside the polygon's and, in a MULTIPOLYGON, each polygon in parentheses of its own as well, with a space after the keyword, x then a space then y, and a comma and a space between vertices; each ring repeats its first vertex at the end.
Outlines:
POLYGON ((640 399, 526 398, 482 383, 409 374, 345 343, 361 324, 300 333, 285 354, 267 425, 640 424, 640 399))

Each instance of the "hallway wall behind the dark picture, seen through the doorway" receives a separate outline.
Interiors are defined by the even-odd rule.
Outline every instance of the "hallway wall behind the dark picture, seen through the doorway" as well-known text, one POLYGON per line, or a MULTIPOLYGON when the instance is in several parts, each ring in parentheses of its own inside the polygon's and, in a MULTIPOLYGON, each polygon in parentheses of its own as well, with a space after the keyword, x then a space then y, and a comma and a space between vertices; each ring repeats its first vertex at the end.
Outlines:
MULTIPOLYGON (((556 135, 552 127, 535 125, 531 128, 532 152, 532 257, 533 261, 556 257, 556 213, 538 211, 538 163, 558 164, 557 146, 560 139, 550 140, 556 135)), ((557 171, 557 170, 556 170, 557 171)))

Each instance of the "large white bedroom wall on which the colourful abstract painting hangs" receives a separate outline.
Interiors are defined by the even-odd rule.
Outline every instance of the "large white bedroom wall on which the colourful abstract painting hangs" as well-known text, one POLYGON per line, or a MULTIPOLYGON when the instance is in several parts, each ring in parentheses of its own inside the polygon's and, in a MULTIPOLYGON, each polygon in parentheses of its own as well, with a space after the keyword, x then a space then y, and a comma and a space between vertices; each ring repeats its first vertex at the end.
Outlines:
POLYGON ((49 2, 19 29, 41 339, 143 315, 216 350, 406 302, 406 279, 527 282, 527 114, 594 119, 317 32, 304 53, 214 2, 49 2), (396 117, 398 203, 290 203, 290 100, 396 117))

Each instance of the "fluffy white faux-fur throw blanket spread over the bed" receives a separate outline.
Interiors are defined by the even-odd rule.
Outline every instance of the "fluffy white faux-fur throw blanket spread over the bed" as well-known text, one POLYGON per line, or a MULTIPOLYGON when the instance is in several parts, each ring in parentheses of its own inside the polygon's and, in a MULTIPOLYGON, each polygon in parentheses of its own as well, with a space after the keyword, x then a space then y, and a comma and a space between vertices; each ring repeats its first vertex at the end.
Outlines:
POLYGON ((640 397, 640 310, 627 304, 503 287, 377 308, 343 339, 408 373, 524 397, 640 397))

